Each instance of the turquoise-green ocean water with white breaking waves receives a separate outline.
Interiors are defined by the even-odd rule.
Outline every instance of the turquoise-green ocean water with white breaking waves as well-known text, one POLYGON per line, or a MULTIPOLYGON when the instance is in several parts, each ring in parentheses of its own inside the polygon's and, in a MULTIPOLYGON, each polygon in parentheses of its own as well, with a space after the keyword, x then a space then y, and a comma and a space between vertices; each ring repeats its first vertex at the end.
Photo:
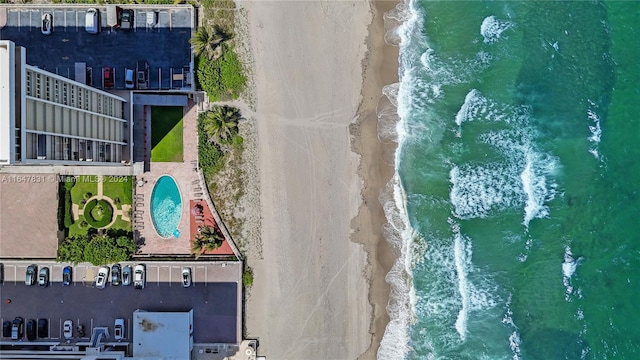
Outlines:
POLYGON ((402 255, 378 357, 640 359, 640 2, 389 17, 402 255))

